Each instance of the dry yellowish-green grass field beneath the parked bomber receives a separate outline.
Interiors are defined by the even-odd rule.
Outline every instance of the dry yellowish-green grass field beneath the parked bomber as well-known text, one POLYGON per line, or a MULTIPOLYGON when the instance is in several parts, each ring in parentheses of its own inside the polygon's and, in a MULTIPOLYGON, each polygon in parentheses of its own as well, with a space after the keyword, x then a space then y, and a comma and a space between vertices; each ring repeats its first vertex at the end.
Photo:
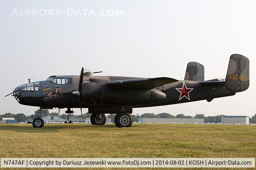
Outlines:
POLYGON ((0 151, 0 158, 255 158, 256 126, 0 124, 0 151))

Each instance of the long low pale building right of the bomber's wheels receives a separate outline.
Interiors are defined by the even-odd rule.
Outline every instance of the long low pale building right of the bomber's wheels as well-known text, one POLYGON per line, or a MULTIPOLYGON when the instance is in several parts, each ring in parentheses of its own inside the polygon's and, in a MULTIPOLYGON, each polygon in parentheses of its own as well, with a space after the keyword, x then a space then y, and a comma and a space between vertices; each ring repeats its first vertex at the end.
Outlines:
POLYGON ((204 119, 189 118, 139 118, 140 123, 204 123, 204 119))

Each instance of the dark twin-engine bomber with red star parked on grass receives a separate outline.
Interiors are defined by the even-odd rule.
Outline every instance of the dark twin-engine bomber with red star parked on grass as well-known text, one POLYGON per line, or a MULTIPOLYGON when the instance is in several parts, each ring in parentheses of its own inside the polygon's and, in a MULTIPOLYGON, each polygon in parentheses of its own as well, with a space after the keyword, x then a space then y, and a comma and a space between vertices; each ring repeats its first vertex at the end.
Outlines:
MULTIPOLYGON (((117 127, 132 125, 133 108, 163 106, 169 104, 212 101, 214 98, 232 96, 249 87, 249 59, 233 54, 229 60, 225 80, 204 81, 204 66, 197 62, 187 64, 184 80, 167 77, 137 78, 96 76, 92 70, 82 68, 79 75, 54 75, 45 81, 30 82, 18 86, 12 96, 20 104, 38 106, 41 109, 88 108, 91 124, 104 125, 105 114, 116 114, 117 127)), ((8 95, 6 95, 8 96, 8 95)), ((41 114, 40 114, 41 115, 41 114)), ((42 128, 44 121, 33 120, 34 128, 42 128)))

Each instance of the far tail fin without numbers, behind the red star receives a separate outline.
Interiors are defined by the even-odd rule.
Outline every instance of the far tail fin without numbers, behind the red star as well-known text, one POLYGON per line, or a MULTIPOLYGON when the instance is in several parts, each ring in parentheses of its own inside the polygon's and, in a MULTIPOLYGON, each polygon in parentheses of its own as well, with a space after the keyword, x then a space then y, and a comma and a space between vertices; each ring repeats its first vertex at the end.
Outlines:
POLYGON ((184 80, 204 81, 204 66, 197 62, 189 62, 184 80))

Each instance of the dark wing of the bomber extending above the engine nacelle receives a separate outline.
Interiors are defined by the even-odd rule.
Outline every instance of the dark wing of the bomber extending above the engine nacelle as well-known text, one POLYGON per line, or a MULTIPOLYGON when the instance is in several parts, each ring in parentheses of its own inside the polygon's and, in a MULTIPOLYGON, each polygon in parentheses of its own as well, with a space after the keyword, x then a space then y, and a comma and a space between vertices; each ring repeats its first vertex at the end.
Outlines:
POLYGON ((178 80, 168 77, 116 80, 107 83, 107 87, 115 89, 154 89, 164 84, 174 83, 178 80))

